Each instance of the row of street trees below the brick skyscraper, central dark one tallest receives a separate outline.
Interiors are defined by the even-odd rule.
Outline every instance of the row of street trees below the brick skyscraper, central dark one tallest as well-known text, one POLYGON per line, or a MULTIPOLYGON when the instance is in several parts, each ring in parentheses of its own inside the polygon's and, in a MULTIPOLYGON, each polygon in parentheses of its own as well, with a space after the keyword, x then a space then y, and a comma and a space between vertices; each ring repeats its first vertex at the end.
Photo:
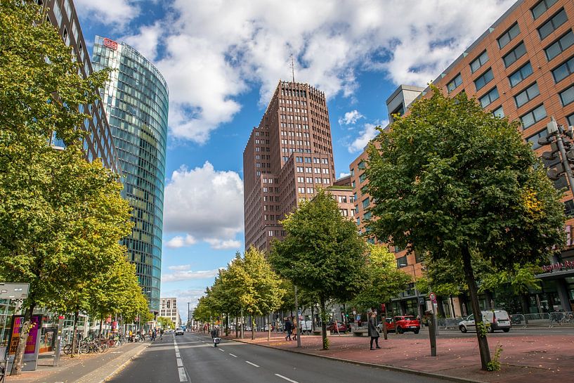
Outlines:
POLYGON ((273 242, 269 254, 251 247, 219 271, 200 298, 195 319, 208 321, 223 313, 254 318, 278 309, 296 312, 296 285, 299 307, 319 304, 323 348, 328 349, 327 304, 349 302, 363 311, 389 301, 410 281, 386 247, 367 245, 326 190, 302 202, 282 224, 285 240, 273 242))

